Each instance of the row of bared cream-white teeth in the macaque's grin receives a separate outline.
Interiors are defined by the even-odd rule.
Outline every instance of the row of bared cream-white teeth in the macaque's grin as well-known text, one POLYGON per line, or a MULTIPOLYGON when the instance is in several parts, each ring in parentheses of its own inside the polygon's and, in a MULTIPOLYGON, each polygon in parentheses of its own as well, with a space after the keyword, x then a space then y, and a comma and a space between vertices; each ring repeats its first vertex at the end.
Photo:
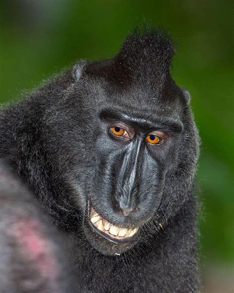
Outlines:
POLYGON ((105 232, 107 234, 111 234, 116 238, 123 238, 123 237, 132 237, 139 228, 134 229, 125 229, 119 228, 107 220, 105 220, 101 215, 99 215, 93 207, 91 207, 91 217, 90 220, 92 224, 100 231, 105 232))

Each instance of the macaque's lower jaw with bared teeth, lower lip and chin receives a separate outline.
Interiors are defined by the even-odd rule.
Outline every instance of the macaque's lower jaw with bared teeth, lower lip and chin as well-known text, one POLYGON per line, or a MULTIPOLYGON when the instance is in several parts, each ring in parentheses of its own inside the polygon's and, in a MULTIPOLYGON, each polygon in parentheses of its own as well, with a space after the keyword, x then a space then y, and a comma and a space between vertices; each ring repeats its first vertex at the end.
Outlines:
POLYGON ((83 229, 89 243, 100 253, 113 256, 132 248, 140 239, 140 227, 123 228, 108 222, 87 202, 83 229))

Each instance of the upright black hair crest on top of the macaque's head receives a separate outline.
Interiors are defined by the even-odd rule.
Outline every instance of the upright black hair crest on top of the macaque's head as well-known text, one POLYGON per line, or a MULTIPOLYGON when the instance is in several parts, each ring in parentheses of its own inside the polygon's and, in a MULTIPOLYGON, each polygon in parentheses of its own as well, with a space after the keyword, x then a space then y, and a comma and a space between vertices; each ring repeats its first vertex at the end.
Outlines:
POLYGON ((169 73, 174 54, 171 35, 162 28, 145 24, 126 37, 116 62, 130 70, 135 78, 158 80, 169 73))

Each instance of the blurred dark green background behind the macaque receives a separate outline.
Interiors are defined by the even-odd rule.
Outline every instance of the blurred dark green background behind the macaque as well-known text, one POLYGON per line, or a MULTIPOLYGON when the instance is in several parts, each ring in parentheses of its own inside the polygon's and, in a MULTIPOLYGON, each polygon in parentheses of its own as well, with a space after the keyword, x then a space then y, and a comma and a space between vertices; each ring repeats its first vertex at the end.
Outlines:
POLYGON ((205 290, 212 293, 233 292, 233 3, 0 1, 0 102, 19 97, 79 58, 111 57, 138 23, 149 21, 172 32, 178 51, 172 75, 190 91, 202 140, 200 258, 205 290))

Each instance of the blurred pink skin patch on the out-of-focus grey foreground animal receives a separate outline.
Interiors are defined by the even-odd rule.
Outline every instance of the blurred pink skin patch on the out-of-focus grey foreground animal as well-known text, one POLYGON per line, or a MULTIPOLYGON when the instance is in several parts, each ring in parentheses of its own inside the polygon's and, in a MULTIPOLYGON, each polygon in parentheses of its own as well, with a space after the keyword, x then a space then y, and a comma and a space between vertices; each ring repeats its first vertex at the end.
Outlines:
POLYGON ((51 290, 58 291, 59 264, 54 255, 54 244, 46 239, 43 226, 35 219, 21 219, 14 223, 11 233, 19 245, 24 259, 33 263, 40 278, 48 280, 51 290))

